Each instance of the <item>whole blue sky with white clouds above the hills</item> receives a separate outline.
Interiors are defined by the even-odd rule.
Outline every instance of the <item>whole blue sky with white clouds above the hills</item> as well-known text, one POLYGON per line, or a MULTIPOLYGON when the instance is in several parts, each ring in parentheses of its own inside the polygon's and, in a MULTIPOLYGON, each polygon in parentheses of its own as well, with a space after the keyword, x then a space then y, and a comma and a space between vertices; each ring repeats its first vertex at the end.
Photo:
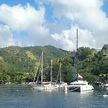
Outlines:
POLYGON ((0 0, 0 47, 108 44, 108 0, 0 0))

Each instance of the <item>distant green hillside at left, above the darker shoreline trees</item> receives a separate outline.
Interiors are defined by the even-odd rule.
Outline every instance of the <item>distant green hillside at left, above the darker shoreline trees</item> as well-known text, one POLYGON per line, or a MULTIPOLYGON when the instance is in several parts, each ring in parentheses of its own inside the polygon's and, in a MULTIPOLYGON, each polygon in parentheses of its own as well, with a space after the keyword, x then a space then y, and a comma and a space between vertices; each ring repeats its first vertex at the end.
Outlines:
POLYGON ((0 49, 0 57, 5 62, 8 72, 30 72, 41 53, 44 53, 44 65, 51 59, 58 59, 66 51, 53 46, 17 47, 11 46, 0 49))

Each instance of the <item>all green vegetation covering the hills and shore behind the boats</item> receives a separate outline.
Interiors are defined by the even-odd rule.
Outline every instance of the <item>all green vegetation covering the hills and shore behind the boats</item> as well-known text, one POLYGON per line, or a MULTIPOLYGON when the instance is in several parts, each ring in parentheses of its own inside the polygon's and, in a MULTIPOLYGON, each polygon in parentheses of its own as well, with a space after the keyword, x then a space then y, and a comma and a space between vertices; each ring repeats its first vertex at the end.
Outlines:
MULTIPOLYGON (((53 46, 17 47, 0 49, 0 84, 33 81, 39 71, 39 59, 44 52, 44 80, 50 79, 50 60, 53 59, 53 81, 57 80, 60 62, 62 80, 74 80, 74 52, 53 46)), ((78 73, 90 83, 108 79, 108 45, 97 51, 88 47, 78 49, 78 73)))

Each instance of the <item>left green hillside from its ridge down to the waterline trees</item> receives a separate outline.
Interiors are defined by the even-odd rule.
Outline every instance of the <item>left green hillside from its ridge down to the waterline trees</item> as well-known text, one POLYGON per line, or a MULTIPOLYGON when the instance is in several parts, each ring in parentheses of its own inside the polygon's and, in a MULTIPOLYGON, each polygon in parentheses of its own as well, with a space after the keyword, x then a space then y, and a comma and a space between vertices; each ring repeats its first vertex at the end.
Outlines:
POLYGON ((39 58, 44 53, 44 67, 50 60, 58 59, 66 54, 66 51, 53 46, 18 47, 10 46, 0 49, 0 83, 15 82, 21 79, 33 80, 39 67, 39 58), (23 76, 26 76, 22 78, 23 76), (19 78, 20 77, 20 78, 19 78))

